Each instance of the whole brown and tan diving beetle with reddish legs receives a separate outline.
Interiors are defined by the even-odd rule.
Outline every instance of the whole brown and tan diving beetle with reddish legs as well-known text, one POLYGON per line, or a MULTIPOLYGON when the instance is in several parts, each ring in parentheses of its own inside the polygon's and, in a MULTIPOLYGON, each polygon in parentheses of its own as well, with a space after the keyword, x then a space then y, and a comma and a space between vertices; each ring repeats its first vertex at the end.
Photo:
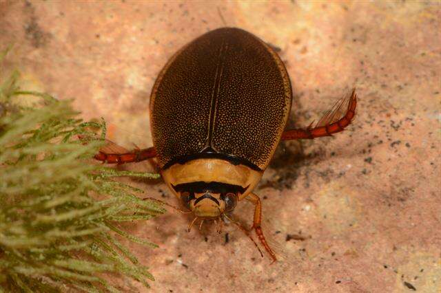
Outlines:
POLYGON ((315 127, 285 130, 291 100, 287 69, 275 50, 239 28, 212 30, 178 50, 156 78, 150 96, 154 146, 127 153, 100 151, 95 158, 122 164, 156 157, 165 184, 195 216, 189 230, 197 219, 220 225, 247 199, 255 206, 252 229, 276 261, 263 235, 262 204, 253 189, 280 140, 343 131, 357 104, 354 89, 315 127))

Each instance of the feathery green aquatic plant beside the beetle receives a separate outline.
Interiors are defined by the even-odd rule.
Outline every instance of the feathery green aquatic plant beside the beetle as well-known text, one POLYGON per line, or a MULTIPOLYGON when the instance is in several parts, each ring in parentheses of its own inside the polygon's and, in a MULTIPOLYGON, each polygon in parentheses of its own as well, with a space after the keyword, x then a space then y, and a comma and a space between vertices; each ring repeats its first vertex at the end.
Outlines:
POLYGON ((127 278, 148 287, 152 274, 121 239, 156 245, 119 223, 165 210, 115 177, 159 175, 94 164, 105 123, 83 122, 71 101, 19 89, 18 78, 0 80, 0 292, 119 292, 127 278))

